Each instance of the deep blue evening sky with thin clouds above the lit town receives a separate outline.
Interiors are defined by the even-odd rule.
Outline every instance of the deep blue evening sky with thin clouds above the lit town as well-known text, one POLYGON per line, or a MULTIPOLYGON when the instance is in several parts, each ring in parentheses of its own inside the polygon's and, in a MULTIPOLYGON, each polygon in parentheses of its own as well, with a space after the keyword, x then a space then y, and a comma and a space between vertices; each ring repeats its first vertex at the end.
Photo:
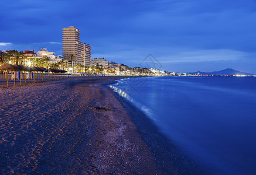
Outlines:
POLYGON ((256 74, 256 0, 3 0, 0 50, 62 55, 75 26, 92 57, 171 72, 233 68, 256 74))

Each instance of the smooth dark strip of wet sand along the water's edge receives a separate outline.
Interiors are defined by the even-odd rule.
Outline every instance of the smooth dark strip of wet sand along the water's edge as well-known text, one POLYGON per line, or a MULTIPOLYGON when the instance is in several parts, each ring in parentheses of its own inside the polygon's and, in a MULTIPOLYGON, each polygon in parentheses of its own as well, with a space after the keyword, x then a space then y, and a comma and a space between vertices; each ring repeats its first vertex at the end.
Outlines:
MULTIPOLYGON (((107 86, 107 85, 105 85, 107 86)), ((192 159, 185 156, 177 146, 159 131, 159 128, 153 121, 146 116, 138 107, 134 106, 131 101, 118 95, 108 88, 115 98, 127 110, 129 117, 137 128, 139 136, 153 153, 153 159, 164 174, 213 174, 192 159)))

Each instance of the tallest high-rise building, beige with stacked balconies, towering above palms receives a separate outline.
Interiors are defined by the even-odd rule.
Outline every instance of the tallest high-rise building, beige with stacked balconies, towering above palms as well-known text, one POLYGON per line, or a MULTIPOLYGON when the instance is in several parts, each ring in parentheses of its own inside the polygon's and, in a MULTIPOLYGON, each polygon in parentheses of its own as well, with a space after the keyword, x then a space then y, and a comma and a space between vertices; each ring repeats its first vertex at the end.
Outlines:
POLYGON ((80 41, 80 31, 70 26, 62 29, 62 54, 64 60, 71 61, 70 55, 73 55, 72 66, 82 64, 90 66, 91 46, 80 41))

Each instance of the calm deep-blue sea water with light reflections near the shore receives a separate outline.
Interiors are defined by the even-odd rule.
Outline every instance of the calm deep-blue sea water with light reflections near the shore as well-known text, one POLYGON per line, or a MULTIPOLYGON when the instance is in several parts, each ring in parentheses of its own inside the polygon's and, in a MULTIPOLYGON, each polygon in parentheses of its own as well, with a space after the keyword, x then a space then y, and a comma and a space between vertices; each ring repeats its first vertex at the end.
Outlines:
POLYGON ((111 88, 194 162, 215 174, 256 174, 255 77, 142 77, 111 88))

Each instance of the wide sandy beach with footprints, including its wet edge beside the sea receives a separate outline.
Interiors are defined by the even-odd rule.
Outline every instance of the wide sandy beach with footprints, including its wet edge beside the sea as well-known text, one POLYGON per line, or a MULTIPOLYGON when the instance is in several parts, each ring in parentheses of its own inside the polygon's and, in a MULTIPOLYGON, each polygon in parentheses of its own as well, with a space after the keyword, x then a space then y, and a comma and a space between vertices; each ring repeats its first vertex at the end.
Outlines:
POLYGON ((105 84, 71 76, 1 88, 2 174, 202 174, 105 84))

